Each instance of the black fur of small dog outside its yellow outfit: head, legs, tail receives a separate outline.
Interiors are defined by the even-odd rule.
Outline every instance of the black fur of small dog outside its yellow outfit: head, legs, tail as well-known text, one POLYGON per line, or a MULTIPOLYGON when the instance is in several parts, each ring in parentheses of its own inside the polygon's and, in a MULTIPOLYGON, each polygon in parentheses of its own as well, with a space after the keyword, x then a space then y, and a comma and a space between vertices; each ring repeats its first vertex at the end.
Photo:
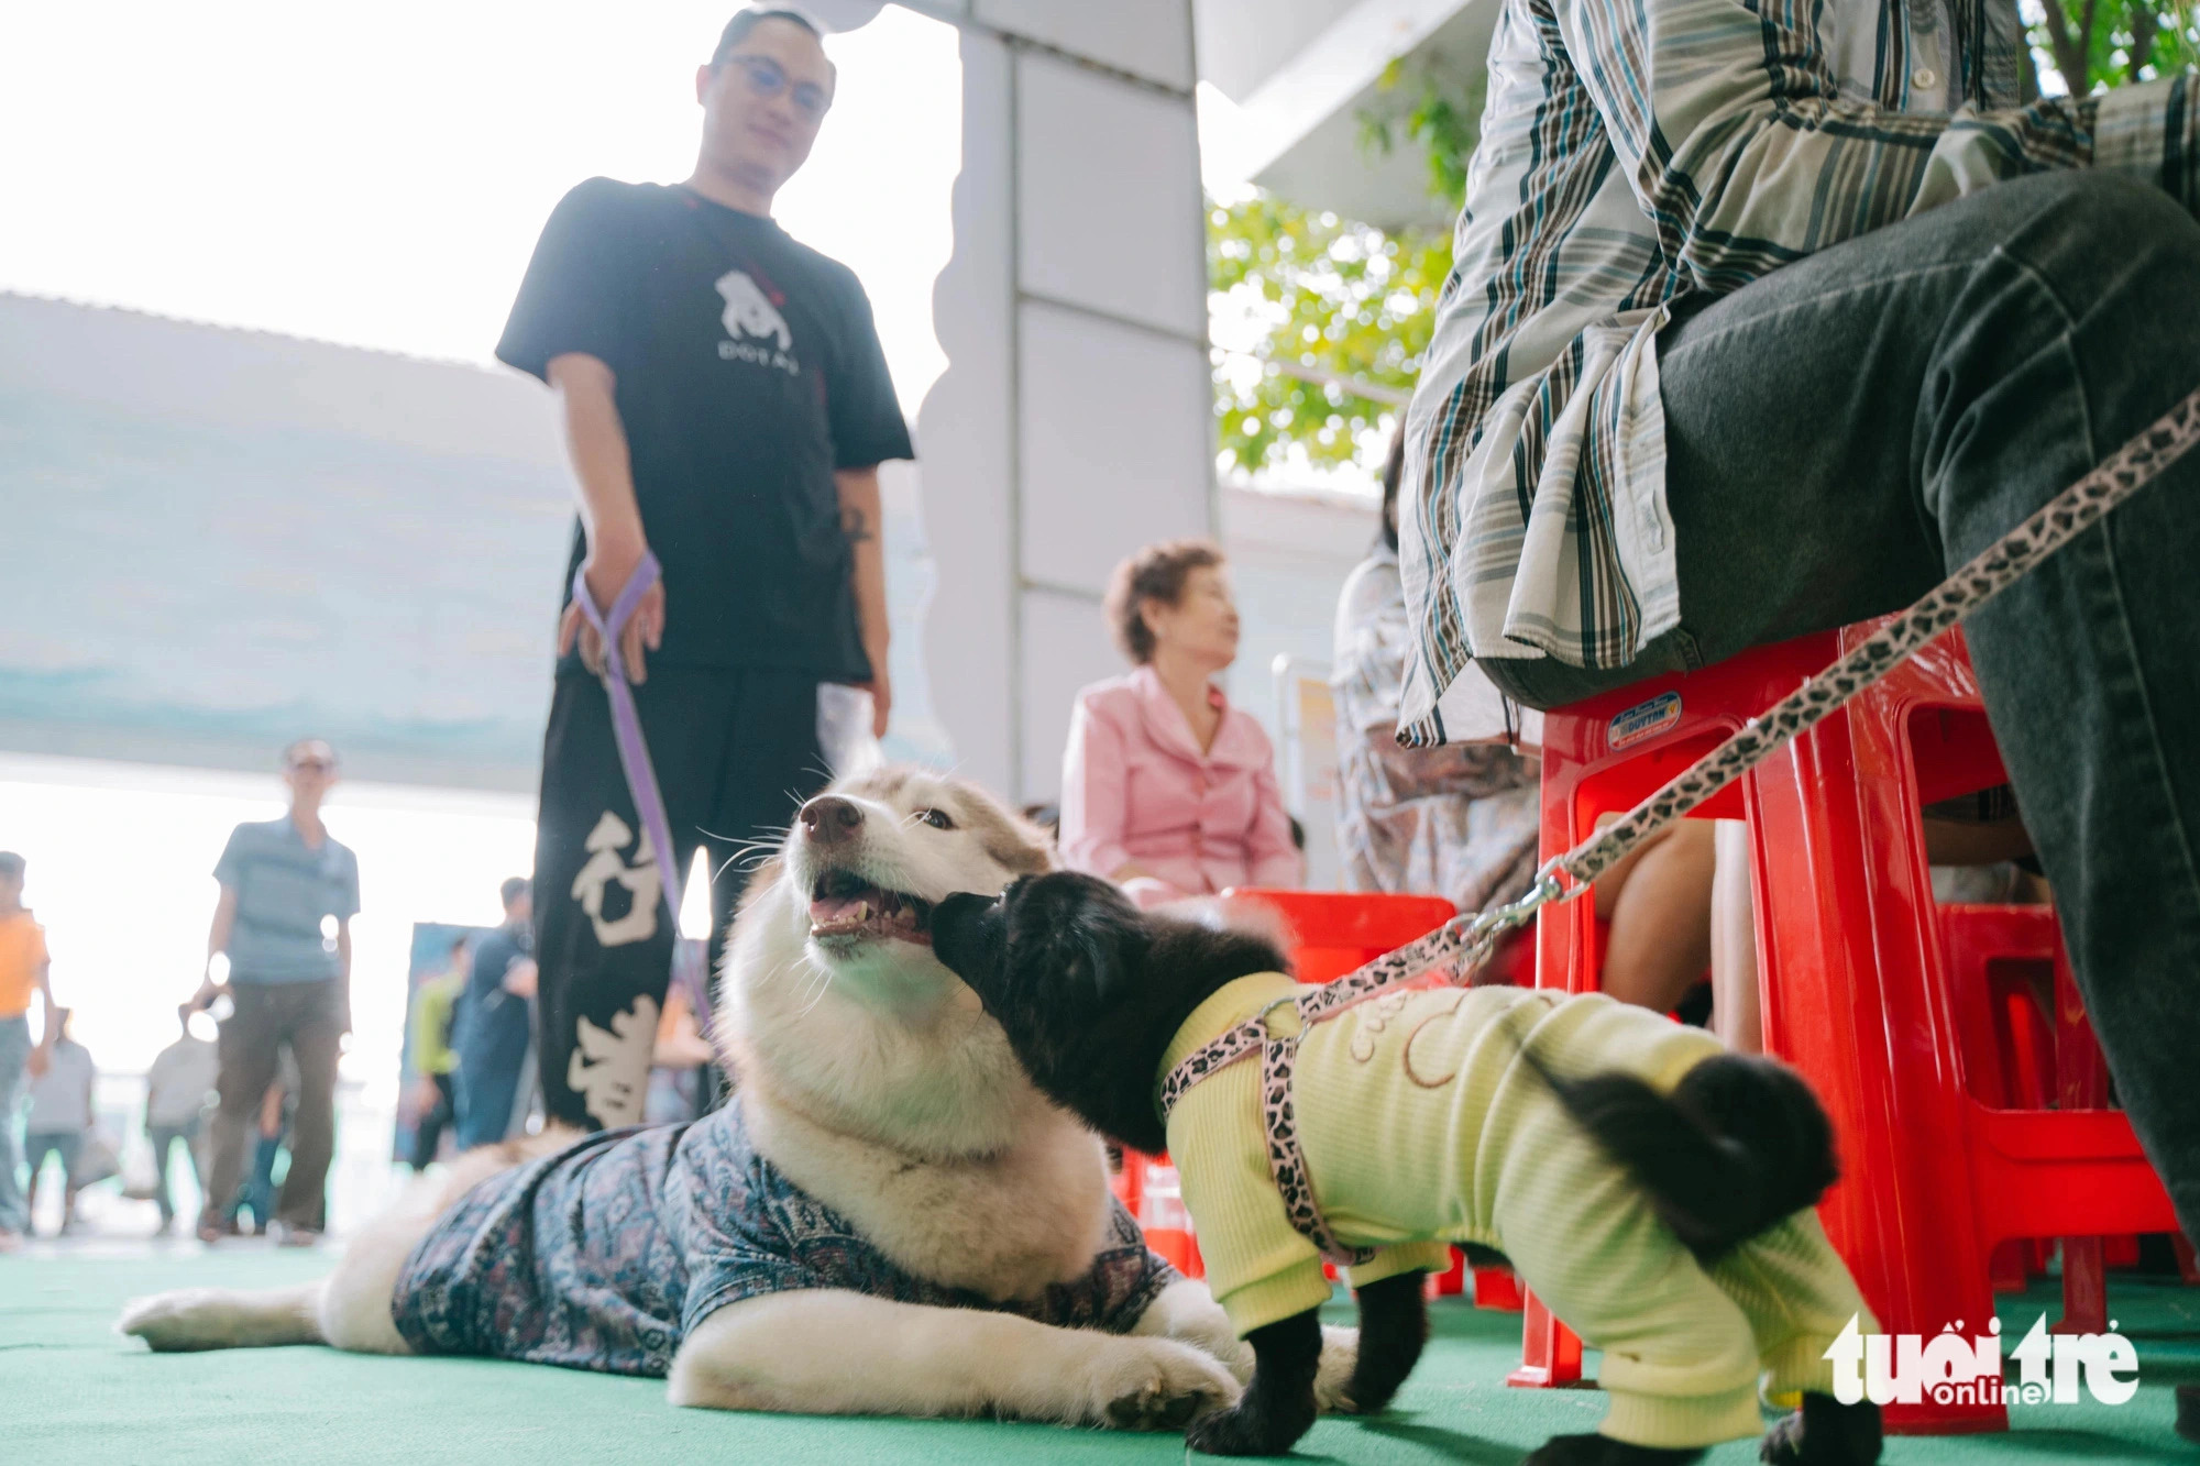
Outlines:
MULTIPOLYGON (((1107 880, 1080 874, 1027 876, 999 898, 950 896, 933 913, 933 949, 977 991, 1043 1092, 1104 1136, 1153 1153, 1166 1149, 1153 1096, 1170 1039, 1225 984, 1285 969, 1261 938, 1146 916, 1107 880)), ((1707 1059, 1661 1096, 1624 1074, 1562 1079, 1522 1054, 1703 1259, 1815 1204, 1835 1178, 1824 1112, 1769 1061, 1707 1059)), ((1373 1413, 1426 1343, 1421 1274, 1371 1283, 1357 1301, 1360 1358, 1346 1396, 1373 1413)), ((1188 1440, 1199 1451, 1274 1455, 1313 1424, 1322 1347, 1313 1310, 1258 1327, 1247 1343, 1254 1380, 1236 1409, 1192 1422, 1188 1440)), ((1879 1444, 1877 1407, 1813 1393, 1764 1437, 1762 1457, 1866 1466, 1879 1444)), ((1661 1466, 1698 1455, 1560 1435, 1529 1462, 1661 1466)))

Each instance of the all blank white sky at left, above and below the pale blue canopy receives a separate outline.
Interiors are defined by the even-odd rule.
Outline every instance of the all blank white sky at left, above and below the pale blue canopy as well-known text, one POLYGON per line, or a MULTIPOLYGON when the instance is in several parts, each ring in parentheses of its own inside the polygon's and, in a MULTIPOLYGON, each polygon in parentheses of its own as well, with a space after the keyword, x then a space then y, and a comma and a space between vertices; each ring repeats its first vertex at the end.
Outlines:
MULTIPOLYGON (((695 64, 735 2, 4 7, 0 291, 486 363, 565 189, 689 174, 695 64)), ((777 214, 862 277, 915 414, 946 365, 931 293, 961 167, 957 37, 889 7, 827 51, 838 99, 777 214)), ((222 841, 282 810, 273 773, 0 755, 0 847, 31 861, 101 1068, 174 1039, 222 841)), ((328 825, 365 905, 345 1074, 394 1090, 411 925, 497 920, 532 801, 339 786, 328 825)))

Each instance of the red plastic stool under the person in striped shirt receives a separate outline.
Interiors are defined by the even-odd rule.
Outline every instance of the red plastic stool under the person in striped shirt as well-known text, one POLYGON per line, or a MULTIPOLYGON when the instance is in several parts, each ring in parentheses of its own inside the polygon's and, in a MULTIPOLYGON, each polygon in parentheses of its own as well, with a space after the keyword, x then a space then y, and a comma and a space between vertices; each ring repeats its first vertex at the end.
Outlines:
MULTIPOLYGON (((1760 647, 1549 713, 1544 856, 1584 839, 1597 814, 1632 808, 1872 630, 1760 647)), ((2083 1046, 2070 1043, 2077 1087, 2059 1109, 1989 1107, 1967 1092, 1918 812, 2004 777, 1962 636, 1949 632, 1696 812, 1749 821, 1764 1043, 1833 1116, 1844 1180, 1822 1217, 1896 1334, 1989 1319, 1989 1257, 2004 1239, 2176 1226, 2130 1120, 2094 1107, 2099 1090, 2081 1083, 2083 1046)), ((1588 900, 1547 911, 1538 982, 1591 991, 1595 975, 1588 900)), ((2081 1010, 2072 1037, 2077 1021, 2081 1010)), ((1516 1385, 1580 1378, 1580 1341, 1533 1299, 1522 1356, 1516 1385)), ((1927 1400, 1890 1407, 1888 1424, 1987 1431, 2004 1429, 2006 1411, 1927 1400)))

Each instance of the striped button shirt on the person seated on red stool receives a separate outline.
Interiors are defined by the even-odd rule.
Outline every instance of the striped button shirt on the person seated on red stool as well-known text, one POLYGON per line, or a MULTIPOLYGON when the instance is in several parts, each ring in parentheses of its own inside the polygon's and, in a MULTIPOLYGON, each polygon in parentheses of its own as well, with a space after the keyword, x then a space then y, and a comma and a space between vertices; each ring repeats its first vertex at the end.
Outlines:
POLYGON ((1626 667, 1679 625, 1676 299, 2050 167, 2200 205, 2193 81, 2042 99, 2013 0, 1505 0, 1406 412, 1399 740, 1500 733, 1474 658, 1626 667))

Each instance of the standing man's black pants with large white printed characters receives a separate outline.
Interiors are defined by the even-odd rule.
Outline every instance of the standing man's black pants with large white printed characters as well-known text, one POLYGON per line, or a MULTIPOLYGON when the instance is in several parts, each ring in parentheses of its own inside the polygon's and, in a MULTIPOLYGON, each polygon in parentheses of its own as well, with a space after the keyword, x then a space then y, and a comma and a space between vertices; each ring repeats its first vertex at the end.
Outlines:
MULTIPOLYGON (((664 792, 673 869, 711 865, 711 966, 757 843, 829 781, 810 671, 651 667, 634 689, 664 792)), ((543 1112, 603 1129, 638 1125, 649 1054, 671 980, 673 920, 612 742, 612 704, 585 674, 561 674, 543 737, 535 834, 535 1037, 543 1112)))

